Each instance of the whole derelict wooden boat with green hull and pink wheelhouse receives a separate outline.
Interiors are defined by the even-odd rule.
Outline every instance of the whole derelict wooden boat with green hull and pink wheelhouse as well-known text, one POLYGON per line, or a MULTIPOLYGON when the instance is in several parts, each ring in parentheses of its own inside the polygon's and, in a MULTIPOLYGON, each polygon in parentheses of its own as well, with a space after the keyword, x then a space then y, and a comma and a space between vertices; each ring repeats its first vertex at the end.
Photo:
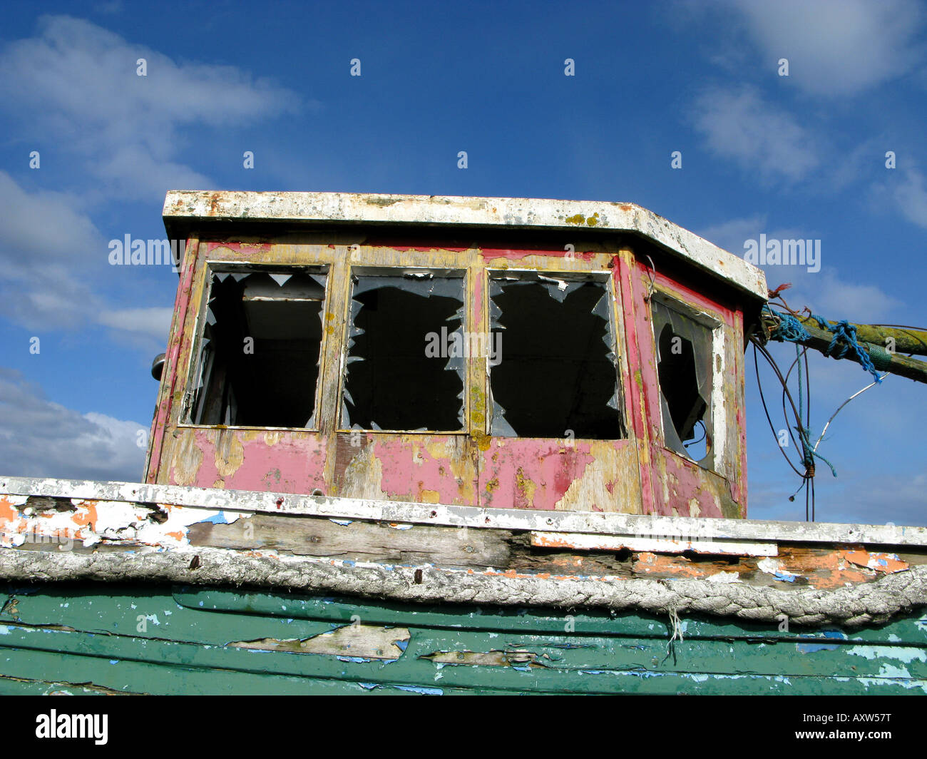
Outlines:
POLYGON ((927 690, 927 530, 745 519, 755 267, 617 203, 165 220, 146 482, 0 477, 0 692, 927 690))

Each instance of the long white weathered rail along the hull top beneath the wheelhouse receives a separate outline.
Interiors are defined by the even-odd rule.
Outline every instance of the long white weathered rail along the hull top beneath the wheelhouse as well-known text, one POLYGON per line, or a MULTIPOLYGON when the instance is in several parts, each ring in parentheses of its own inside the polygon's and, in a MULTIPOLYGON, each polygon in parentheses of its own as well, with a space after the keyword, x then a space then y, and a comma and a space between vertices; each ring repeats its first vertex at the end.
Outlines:
POLYGON ((45 495, 183 506, 197 509, 198 518, 195 521, 208 519, 219 511, 241 514, 262 512, 542 532, 633 536, 679 534, 714 541, 859 543, 867 546, 927 547, 927 528, 924 527, 655 517, 612 512, 539 512, 527 509, 441 506, 325 495, 218 490, 143 482, 0 476, 0 496, 4 495, 45 495), (203 513, 204 510, 207 513, 203 513))

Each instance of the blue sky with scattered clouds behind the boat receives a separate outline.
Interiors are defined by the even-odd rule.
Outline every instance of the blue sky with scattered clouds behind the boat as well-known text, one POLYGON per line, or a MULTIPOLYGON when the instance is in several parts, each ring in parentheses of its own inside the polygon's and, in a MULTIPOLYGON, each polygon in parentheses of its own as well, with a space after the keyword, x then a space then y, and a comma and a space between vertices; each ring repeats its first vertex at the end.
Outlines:
MULTIPOLYGON (((927 324, 923 4, 26 5, 0 29, 5 474, 141 476, 177 278, 108 240, 163 238, 168 189, 630 201, 738 255, 819 239, 819 272, 766 267, 793 307, 927 324)), ((750 516, 804 519, 748 359, 750 516)), ((868 378, 812 355, 812 430, 868 378)), ((894 377, 844 408, 819 520, 927 524, 925 408, 894 377)))

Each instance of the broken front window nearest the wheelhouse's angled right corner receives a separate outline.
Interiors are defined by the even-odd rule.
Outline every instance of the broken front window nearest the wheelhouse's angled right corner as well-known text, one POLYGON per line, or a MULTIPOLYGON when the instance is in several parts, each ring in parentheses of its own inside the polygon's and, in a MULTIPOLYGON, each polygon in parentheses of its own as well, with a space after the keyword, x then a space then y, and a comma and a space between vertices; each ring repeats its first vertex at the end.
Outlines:
POLYGON ((535 272, 490 279, 491 433, 614 440, 627 436, 603 280, 535 272))

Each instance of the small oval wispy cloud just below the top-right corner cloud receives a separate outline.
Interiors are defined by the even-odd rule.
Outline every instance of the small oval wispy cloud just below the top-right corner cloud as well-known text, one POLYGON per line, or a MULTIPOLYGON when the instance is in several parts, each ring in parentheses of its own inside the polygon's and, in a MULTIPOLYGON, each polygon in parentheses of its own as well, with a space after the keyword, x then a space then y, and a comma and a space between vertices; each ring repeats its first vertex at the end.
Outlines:
POLYGON ((692 122, 712 153, 765 184, 797 182, 820 162, 814 136, 753 87, 706 90, 695 99, 692 122))

